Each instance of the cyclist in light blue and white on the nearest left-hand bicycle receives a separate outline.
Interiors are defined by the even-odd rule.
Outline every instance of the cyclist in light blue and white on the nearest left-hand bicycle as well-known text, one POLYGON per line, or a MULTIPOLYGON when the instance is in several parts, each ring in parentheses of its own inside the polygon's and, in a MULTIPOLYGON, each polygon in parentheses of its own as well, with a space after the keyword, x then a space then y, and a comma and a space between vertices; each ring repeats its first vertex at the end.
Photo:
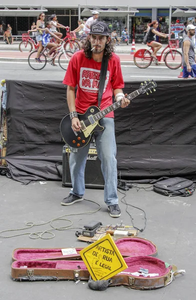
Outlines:
MULTIPOLYGON (((49 52, 46 54, 47 57, 52 60, 51 65, 56 66, 57 64, 54 63, 55 58, 50 58, 50 54, 55 51, 58 44, 54 42, 50 42, 50 37, 53 36, 56 40, 59 40, 59 42, 62 40, 60 39, 56 34, 51 32, 49 29, 52 27, 51 21, 45 23, 46 27, 42 34, 42 46, 49 49, 49 52)), ((37 58, 35 58, 36 61, 39 62, 37 58)))

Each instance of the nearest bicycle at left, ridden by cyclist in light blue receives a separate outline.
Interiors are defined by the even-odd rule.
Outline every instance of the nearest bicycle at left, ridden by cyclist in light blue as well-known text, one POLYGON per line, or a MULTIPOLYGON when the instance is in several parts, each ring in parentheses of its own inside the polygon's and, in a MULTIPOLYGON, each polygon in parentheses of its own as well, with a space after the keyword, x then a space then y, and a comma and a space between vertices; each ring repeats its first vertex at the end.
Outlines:
POLYGON ((72 56, 72 52, 68 53, 69 51, 66 51, 64 49, 64 41, 62 41, 60 43, 60 45, 55 49, 55 54, 54 56, 48 60, 48 57, 47 55, 44 54, 44 52, 47 52, 48 53, 48 49, 46 47, 43 48, 43 50, 40 52, 39 54, 39 59, 41 62, 37 62, 35 60, 36 58, 36 55, 37 55, 37 50, 31 52, 28 56, 28 64, 29 66, 34 69, 34 70, 41 70, 42 68, 44 68, 44 66, 46 65, 46 62, 48 61, 49 63, 51 63, 51 59, 55 59, 56 56, 59 54, 58 56, 58 63, 59 63, 59 66, 66 71, 66 68, 67 68, 67 64, 69 62, 69 59, 67 56, 72 56), (66 55, 67 54, 67 55, 66 55))

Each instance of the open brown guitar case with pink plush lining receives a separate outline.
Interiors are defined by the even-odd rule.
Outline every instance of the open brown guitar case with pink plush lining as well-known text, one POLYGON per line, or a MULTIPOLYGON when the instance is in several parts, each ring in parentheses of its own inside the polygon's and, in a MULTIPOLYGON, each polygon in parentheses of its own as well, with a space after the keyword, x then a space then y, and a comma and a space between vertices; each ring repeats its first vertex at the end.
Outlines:
MULTIPOLYGON (((156 246, 140 237, 123 237, 115 244, 128 266, 114 275, 108 286, 125 285, 137 289, 152 289, 169 284, 177 271, 172 265, 156 258, 156 246), (147 269, 148 274, 138 274, 147 269), (135 273, 136 272, 136 273, 135 273)), ((64 248, 63 248, 64 249, 64 248)), ((62 255, 61 248, 16 248, 12 252, 11 277, 16 280, 88 280, 90 274, 79 255, 62 255)))

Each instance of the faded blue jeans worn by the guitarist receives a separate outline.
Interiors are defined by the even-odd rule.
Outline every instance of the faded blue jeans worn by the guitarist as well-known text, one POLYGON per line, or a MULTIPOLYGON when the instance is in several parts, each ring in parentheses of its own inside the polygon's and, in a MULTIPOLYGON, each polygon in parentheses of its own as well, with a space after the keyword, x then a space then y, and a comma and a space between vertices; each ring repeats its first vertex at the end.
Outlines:
MULTIPOLYGON (((118 203, 117 197, 117 161, 116 143, 114 133, 114 119, 104 117, 99 124, 105 129, 94 133, 96 151, 101 161, 101 170, 105 181, 104 201, 107 205, 118 203)), ((84 169, 90 143, 85 147, 77 149, 76 153, 71 152, 69 167, 71 174, 72 189, 70 193, 76 196, 83 196, 85 190, 84 169)), ((95 169, 93 170, 96 171, 95 169)))

